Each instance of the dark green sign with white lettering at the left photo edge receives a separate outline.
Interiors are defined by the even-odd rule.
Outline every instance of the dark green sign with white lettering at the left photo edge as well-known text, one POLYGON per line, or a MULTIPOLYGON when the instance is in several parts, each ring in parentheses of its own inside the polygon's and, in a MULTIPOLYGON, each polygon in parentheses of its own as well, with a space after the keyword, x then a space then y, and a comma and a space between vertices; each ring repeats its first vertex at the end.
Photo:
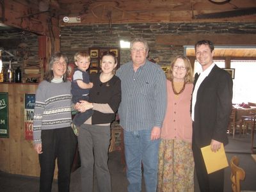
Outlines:
POLYGON ((9 138, 8 93, 0 93, 0 138, 9 138))

